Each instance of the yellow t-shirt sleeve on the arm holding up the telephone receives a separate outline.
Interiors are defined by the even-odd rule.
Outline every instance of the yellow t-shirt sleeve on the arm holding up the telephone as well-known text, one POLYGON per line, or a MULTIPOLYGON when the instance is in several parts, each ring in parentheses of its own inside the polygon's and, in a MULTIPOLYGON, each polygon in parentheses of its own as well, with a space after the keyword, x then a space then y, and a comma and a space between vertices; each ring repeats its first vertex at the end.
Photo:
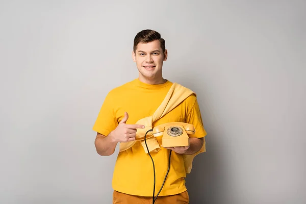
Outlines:
POLYGON ((190 103, 190 108, 188 108, 188 113, 186 116, 185 122, 189 124, 193 124, 195 127, 195 134, 194 135, 189 135, 189 137, 205 137, 207 135, 206 130, 204 129, 203 122, 202 122, 202 117, 201 117, 201 112, 200 108, 196 99, 196 96, 191 96, 191 101, 190 103))

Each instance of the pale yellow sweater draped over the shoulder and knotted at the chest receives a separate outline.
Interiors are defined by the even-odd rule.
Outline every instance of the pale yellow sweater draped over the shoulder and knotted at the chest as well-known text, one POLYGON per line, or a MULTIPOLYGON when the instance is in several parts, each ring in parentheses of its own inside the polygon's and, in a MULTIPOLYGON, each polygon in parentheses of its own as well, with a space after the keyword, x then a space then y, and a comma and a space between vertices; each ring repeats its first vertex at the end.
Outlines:
MULTIPOLYGON (((152 129, 152 123, 154 121, 158 120, 159 118, 163 117, 168 112, 170 112, 172 109, 174 109, 177 105, 182 103, 182 101, 184 101, 191 94, 196 95, 190 89, 188 89, 188 88, 186 88, 186 87, 184 87, 180 84, 173 83, 170 90, 168 91, 165 99, 163 100, 163 102, 159 106, 159 108, 155 111, 155 113, 152 116, 142 118, 142 119, 140 119, 136 122, 136 124, 145 125, 144 129, 138 129, 137 130, 136 141, 139 141, 139 140, 141 141, 141 144, 142 144, 146 153, 147 153, 147 149, 146 149, 145 142, 144 142, 144 136, 145 136, 145 133, 148 130, 152 129)), ((120 146, 119 146, 120 150, 119 151, 121 152, 121 151, 124 151, 126 149, 129 149, 130 147, 132 147, 136 143, 136 141, 120 143, 120 146)), ((147 143, 147 146, 148 146, 148 149, 149 149, 150 152, 151 151, 159 151, 161 149, 161 147, 160 147, 159 143, 157 142, 156 138, 151 135, 151 132, 147 133, 146 143, 147 143)), ((186 173, 191 172, 192 162, 193 162, 194 157, 196 155, 200 154, 201 152, 205 152, 205 151, 206 151, 206 142, 204 140, 203 146, 201 147, 201 149, 198 152, 196 152, 193 155, 183 155, 184 166, 185 166, 186 173)))

